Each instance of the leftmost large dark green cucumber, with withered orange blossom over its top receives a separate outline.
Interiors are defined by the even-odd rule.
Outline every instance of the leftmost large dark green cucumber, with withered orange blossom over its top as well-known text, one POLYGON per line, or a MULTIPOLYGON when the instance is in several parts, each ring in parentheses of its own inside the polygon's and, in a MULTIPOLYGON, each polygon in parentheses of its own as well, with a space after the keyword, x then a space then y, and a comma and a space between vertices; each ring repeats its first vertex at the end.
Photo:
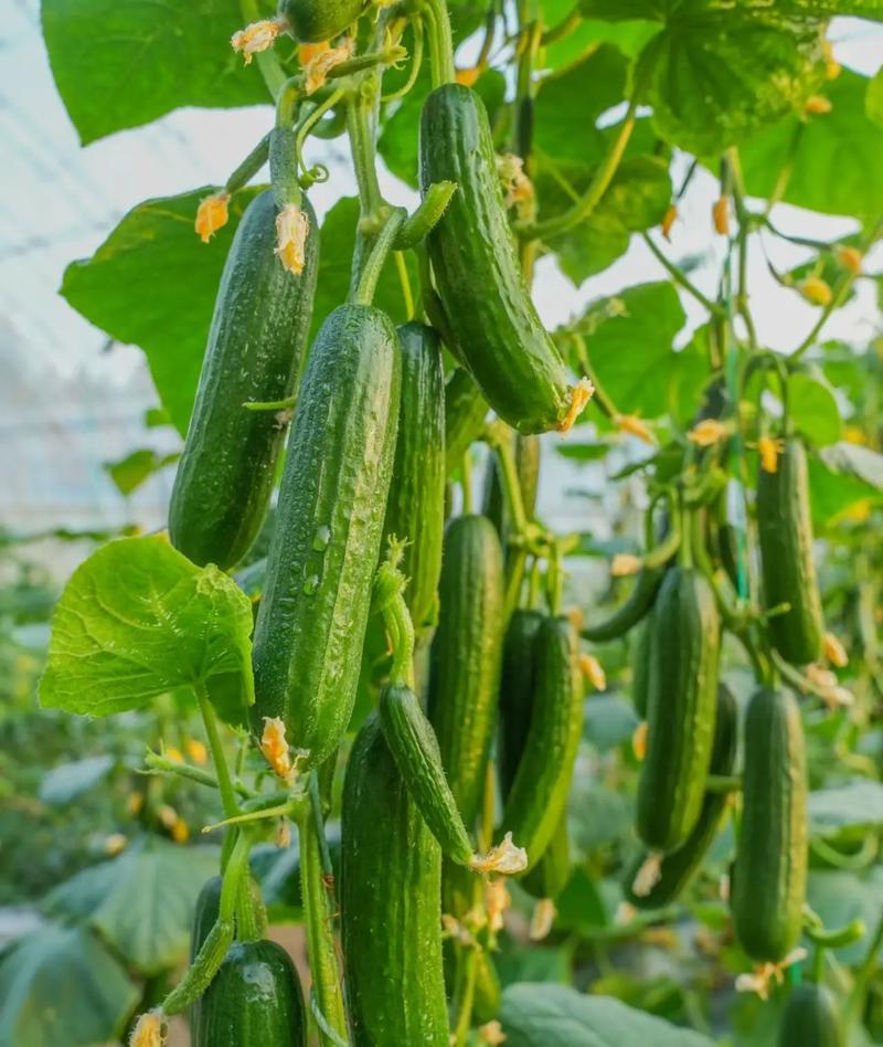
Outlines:
POLYGON ((263 192, 233 237, 209 331, 196 402, 172 488, 169 533, 194 563, 227 570, 257 538, 267 515, 286 426, 248 401, 295 391, 319 271, 316 215, 304 272, 286 272, 274 254, 276 207, 263 192))

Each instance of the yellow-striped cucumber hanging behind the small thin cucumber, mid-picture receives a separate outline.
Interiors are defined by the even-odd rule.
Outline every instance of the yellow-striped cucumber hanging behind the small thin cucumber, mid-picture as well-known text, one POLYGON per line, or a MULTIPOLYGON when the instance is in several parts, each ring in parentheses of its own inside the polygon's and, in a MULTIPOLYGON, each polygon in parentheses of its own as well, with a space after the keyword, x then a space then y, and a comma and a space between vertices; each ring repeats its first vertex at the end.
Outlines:
POLYGON ((490 520, 445 531, 440 612, 429 665, 429 719, 457 806, 471 829, 493 736, 502 646, 502 552, 490 520))

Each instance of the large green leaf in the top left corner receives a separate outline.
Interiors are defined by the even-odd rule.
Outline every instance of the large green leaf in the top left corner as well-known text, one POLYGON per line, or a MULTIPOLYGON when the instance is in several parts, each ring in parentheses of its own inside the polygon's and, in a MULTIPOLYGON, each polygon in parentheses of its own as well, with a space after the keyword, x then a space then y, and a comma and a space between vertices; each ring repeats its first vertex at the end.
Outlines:
MULTIPOLYGON (((264 4, 265 6, 265 4, 264 4)), ((50 64, 83 145, 185 105, 269 102, 230 38, 236 0, 43 0, 50 64)))

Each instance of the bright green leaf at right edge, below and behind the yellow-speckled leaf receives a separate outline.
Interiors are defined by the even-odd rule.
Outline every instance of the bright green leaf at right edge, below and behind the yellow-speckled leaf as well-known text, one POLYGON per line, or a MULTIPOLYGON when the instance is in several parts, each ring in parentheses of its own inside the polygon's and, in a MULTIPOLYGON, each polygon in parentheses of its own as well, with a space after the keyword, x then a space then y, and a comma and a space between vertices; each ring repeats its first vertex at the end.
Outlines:
POLYGON ((875 221, 883 213, 883 127, 868 116, 868 77, 847 68, 826 84, 831 112, 799 127, 796 148, 794 117, 745 142, 741 158, 748 192, 768 197, 792 156, 786 203, 875 221))

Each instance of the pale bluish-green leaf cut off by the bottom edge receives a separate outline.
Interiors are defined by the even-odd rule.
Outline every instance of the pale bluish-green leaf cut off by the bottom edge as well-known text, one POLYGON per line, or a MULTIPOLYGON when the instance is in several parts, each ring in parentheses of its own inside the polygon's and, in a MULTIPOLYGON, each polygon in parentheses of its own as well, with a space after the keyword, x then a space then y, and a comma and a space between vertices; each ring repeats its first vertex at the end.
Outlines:
POLYGON ((711 1047, 699 1033, 564 985, 510 985, 500 1015, 507 1047, 711 1047))

